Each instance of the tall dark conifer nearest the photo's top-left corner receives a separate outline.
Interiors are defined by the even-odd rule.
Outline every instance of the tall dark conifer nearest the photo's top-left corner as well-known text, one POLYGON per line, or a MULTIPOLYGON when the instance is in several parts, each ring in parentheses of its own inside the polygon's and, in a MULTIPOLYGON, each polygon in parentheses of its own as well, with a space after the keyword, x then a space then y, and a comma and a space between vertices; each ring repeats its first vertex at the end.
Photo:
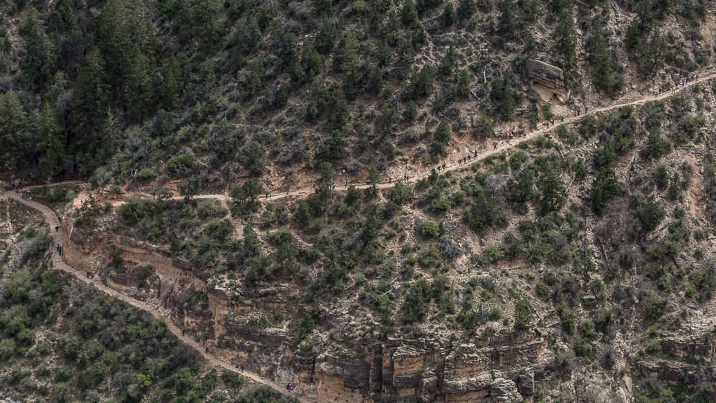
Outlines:
POLYGON ((55 55, 52 42, 45 33, 44 22, 34 7, 28 10, 20 35, 25 40, 26 50, 25 57, 21 59, 22 70, 29 82, 42 88, 54 75, 55 55))

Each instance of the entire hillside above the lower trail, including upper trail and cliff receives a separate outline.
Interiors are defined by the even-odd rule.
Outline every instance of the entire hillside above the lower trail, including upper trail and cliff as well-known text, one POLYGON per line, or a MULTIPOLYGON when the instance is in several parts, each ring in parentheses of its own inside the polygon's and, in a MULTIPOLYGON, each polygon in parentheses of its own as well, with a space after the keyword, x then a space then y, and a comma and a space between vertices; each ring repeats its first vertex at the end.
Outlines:
POLYGON ((716 399, 710 2, 1 7, 6 178, 87 177, 29 191, 62 261, 211 354, 319 402, 716 399))

